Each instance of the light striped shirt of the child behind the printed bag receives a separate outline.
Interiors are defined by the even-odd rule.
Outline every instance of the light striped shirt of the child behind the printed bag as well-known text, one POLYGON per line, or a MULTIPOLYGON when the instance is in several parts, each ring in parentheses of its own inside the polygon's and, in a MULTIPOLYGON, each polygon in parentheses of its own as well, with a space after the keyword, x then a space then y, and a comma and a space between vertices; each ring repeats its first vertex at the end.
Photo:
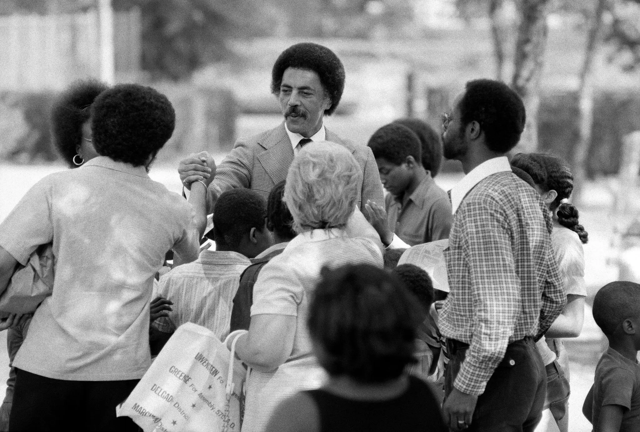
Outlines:
POLYGON ((237 252, 200 252, 194 262, 178 266, 160 278, 157 294, 173 301, 173 311, 152 325, 161 332, 172 333, 184 323, 194 323, 225 340, 240 276, 250 264, 237 252))

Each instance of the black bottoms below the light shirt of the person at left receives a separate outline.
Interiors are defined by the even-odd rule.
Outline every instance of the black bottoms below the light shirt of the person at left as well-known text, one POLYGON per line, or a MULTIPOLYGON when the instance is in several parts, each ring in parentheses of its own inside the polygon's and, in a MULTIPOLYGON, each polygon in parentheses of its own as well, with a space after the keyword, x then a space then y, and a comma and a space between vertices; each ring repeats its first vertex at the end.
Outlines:
POLYGON ((139 380, 54 380, 16 369, 10 431, 132 431, 129 417, 116 417, 139 380))

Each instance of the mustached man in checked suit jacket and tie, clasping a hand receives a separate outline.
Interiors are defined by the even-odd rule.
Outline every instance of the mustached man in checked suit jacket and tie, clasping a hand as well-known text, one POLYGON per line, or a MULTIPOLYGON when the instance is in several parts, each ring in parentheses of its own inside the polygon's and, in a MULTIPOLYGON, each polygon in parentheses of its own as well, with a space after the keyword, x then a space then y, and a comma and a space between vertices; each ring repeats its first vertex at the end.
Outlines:
POLYGON ((287 176, 294 156, 310 141, 332 141, 346 147, 362 169, 358 207, 369 220, 367 200, 384 204, 380 175, 371 149, 340 138, 324 127, 323 118, 337 108, 344 89, 344 67, 327 47, 304 42, 285 49, 273 65, 271 92, 284 121, 266 132, 241 138, 220 166, 206 152, 180 161, 180 180, 191 193, 207 194, 207 213, 218 196, 232 188, 250 188, 265 199, 287 176), (197 180, 215 177, 208 188, 197 180))

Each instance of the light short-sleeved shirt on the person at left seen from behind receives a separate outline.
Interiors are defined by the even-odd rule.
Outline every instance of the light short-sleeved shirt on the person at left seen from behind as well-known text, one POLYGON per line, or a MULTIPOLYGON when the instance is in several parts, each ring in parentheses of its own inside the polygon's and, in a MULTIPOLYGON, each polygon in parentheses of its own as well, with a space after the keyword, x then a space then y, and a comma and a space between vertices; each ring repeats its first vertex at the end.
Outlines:
POLYGON ((141 378, 154 275, 166 251, 198 252, 193 216, 145 168, 104 156, 36 183, 0 225, 0 246, 25 264, 52 243, 54 289, 13 365, 58 380, 141 378))

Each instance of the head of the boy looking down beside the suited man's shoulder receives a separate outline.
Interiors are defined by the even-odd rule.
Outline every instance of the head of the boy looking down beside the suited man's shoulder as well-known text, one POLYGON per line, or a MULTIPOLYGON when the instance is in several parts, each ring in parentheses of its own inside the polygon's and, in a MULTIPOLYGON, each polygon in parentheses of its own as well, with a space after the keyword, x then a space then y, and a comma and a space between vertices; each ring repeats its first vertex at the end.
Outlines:
POLYGON ((376 158, 383 186, 394 196, 402 196, 419 170, 424 170, 420 139, 404 125, 384 125, 373 133, 367 145, 376 158))

